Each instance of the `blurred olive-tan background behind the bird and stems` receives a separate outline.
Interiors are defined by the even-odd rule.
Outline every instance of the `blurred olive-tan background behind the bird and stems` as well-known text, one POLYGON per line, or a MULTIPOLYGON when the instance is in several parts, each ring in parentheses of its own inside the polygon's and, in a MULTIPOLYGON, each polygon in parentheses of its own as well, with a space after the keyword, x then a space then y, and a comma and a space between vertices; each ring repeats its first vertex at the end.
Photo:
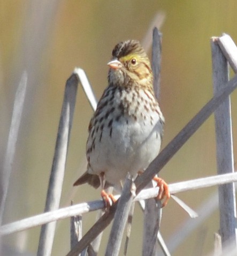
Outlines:
MULTIPOLYGON (((24 114, 7 197, 4 223, 42 213, 48 189, 64 86, 75 66, 87 73, 97 99, 107 84, 111 51, 126 39, 143 40, 157 12, 165 13, 162 28, 160 106, 166 119, 163 147, 212 97, 210 37, 223 32, 237 43, 237 2, 211 1, 0 1, 0 150, 3 165, 14 95, 24 70, 28 72, 24 114)), ((237 93, 232 98, 234 149, 237 146, 237 93)), ((87 126, 93 110, 82 88, 77 105, 65 171, 61 206, 95 200, 100 191, 72 184, 85 171, 87 126)), ((237 157, 235 153, 235 158, 237 157)), ((236 167, 235 167, 236 168, 236 167)), ((168 183, 216 174, 213 115, 160 172, 168 183)), ((190 207, 199 205, 217 188, 181 193, 190 207)), ((135 208, 128 255, 141 255, 142 213, 135 208)), ((84 231, 95 214, 83 217, 84 231)), ((189 219, 173 200, 163 210, 165 240, 189 219)), ((205 255, 213 249, 219 229, 218 211, 172 255, 205 255), (200 242, 202 240, 202 243, 200 242), (200 244, 201 243, 201 244, 200 244)), ((100 255, 103 255, 106 231, 100 255)), ((40 228, 4 237, 4 243, 36 253, 40 228)), ((70 248, 70 220, 59 221, 52 255, 70 248)), ((123 250, 121 250, 123 251, 123 250)))

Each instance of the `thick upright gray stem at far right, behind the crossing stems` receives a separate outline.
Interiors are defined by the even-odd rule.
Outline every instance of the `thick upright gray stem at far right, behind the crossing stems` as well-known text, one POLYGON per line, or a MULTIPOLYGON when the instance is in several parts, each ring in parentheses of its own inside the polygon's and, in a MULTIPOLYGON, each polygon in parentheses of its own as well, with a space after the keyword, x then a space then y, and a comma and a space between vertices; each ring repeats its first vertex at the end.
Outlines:
MULTIPOLYGON (((217 95, 228 81, 228 63, 215 38, 211 40, 212 79, 214 95, 217 95)), ((230 96, 215 110, 217 172, 234 172, 231 100, 230 96)), ((236 204, 234 184, 218 187, 221 243, 236 241, 236 204)))

